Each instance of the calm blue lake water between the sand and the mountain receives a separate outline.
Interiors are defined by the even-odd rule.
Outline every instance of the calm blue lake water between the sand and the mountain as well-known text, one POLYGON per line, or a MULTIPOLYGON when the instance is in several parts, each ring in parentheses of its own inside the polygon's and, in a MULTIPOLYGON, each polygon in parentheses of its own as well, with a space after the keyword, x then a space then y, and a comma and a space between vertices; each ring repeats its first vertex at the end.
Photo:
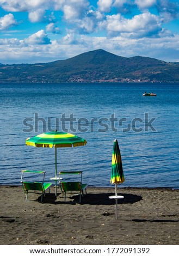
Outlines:
POLYGON ((111 186, 118 139, 121 187, 179 188, 178 96, 179 84, 0 84, 0 183, 20 184, 22 169, 54 176, 54 148, 28 147, 25 140, 66 129, 88 143, 57 149, 58 172, 83 170, 89 185, 111 186))

